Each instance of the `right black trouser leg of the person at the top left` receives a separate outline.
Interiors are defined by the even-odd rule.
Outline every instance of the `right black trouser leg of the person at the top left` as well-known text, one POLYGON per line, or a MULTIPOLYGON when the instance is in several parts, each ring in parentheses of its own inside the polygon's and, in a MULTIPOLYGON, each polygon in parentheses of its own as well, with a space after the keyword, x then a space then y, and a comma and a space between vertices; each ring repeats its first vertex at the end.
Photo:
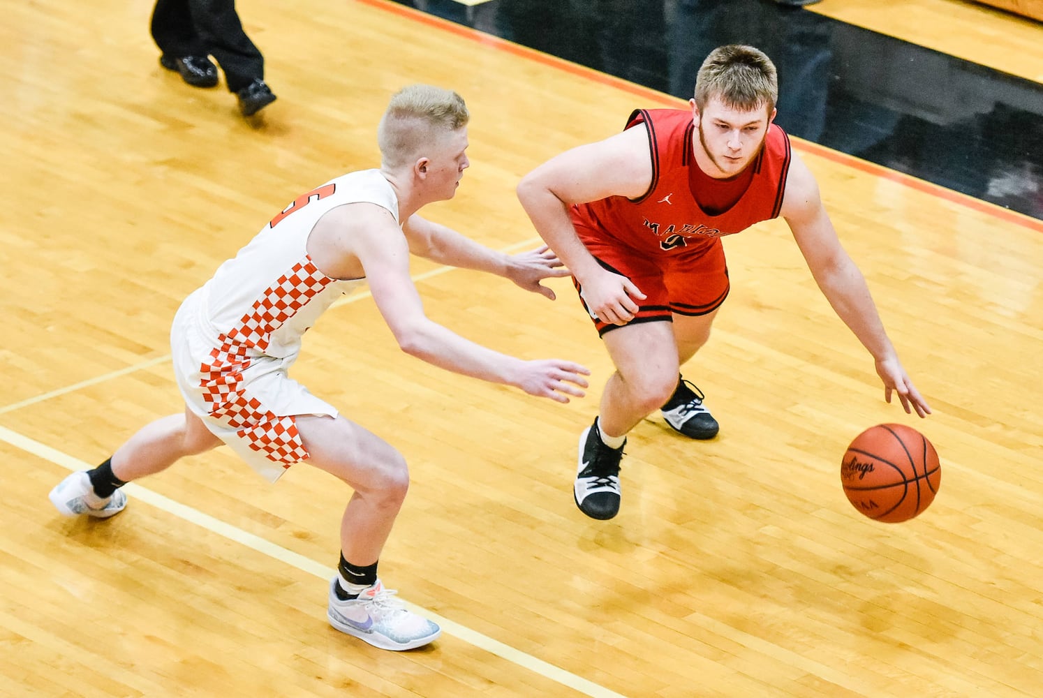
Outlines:
POLYGON ((235 0, 188 0, 192 20, 224 71, 228 90, 239 92, 264 79, 264 56, 243 30, 235 0))

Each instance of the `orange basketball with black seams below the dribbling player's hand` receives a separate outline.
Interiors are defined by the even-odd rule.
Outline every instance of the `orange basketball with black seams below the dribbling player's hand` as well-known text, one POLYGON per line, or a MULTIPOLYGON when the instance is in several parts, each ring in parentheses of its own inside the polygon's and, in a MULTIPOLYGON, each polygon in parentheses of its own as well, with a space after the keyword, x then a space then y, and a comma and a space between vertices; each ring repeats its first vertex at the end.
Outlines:
POLYGON ((858 434, 841 462, 844 494, 873 521, 908 521, 935 501, 942 483, 938 452, 903 425, 876 425, 858 434))

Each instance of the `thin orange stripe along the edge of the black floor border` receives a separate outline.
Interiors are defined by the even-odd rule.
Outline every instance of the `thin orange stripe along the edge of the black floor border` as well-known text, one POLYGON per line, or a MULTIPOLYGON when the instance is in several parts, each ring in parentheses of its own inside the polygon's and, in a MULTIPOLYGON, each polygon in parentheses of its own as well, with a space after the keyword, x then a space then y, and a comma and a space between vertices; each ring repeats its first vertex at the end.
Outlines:
MULTIPOLYGON (((483 31, 478 31, 477 29, 471 29, 470 27, 465 27, 460 24, 456 24, 455 22, 450 22, 448 20, 443 20, 440 17, 428 15, 427 13, 422 13, 418 9, 413 9, 412 7, 390 2, 389 0, 356 1, 371 7, 378 7, 393 15, 398 15, 399 17, 405 17, 414 22, 427 24, 442 31, 457 34, 458 37, 463 37, 464 39, 475 41, 482 46, 487 46, 499 51, 506 51, 507 53, 520 56, 527 61, 534 61, 536 63, 543 64, 544 66, 550 66, 558 70, 563 70, 566 73, 578 75, 584 79, 593 80, 595 82, 600 82, 624 92, 629 92, 630 94, 636 95, 641 99, 657 102, 664 106, 681 106, 687 104, 687 100, 680 99, 679 97, 674 97, 657 90, 652 90, 618 77, 613 77, 612 75, 599 72, 592 68, 580 66, 579 64, 558 58, 548 53, 527 48, 519 44, 514 44, 504 39, 500 39, 499 37, 493 37, 483 31)), ((925 194, 930 194, 931 196, 937 196, 938 198, 957 203, 968 209, 972 209, 973 211, 993 216, 994 218, 999 218, 1006 222, 1043 233, 1043 220, 1038 220, 1030 216, 1018 213, 1017 211, 1011 211, 1010 209, 1004 209, 995 203, 974 198, 968 194, 946 189, 945 187, 931 184, 911 174, 905 174, 904 172, 899 172, 898 170, 893 170, 888 167, 883 167, 882 165, 877 165, 875 163, 862 160, 860 158, 855 158, 854 155, 849 155, 845 152, 827 148, 819 145, 818 143, 811 143, 810 141, 804 141, 798 138, 793 138, 792 141, 799 150, 831 160, 847 167, 852 167, 856 170, 872 174, 873 176, 896 182, 925 194)))

